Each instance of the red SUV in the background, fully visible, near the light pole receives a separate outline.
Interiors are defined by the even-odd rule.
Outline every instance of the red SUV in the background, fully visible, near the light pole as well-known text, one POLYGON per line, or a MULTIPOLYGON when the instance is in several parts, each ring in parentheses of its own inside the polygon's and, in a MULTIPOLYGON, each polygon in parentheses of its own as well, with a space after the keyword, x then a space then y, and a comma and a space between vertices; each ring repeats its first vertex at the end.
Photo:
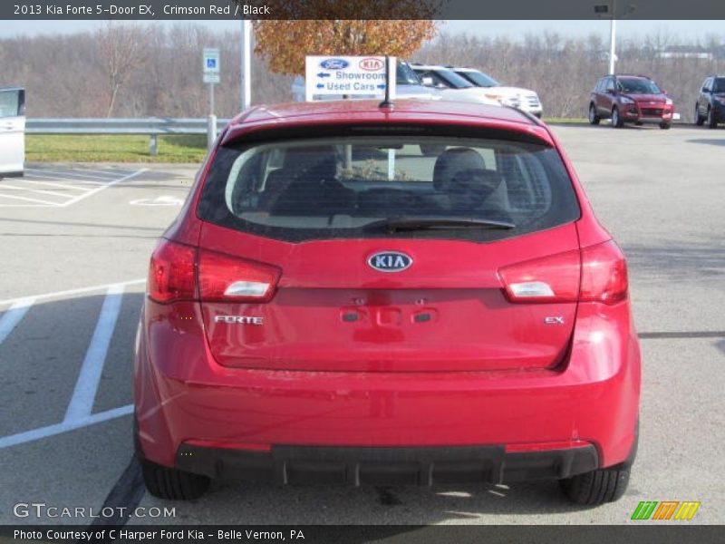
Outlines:
POLYGON ((612 119, 615 129, 625 122, 656 122, 669 129, 673 114, 672 99, 643 75, 607 75, 596 83, 589 100, 589 122, 612 119))

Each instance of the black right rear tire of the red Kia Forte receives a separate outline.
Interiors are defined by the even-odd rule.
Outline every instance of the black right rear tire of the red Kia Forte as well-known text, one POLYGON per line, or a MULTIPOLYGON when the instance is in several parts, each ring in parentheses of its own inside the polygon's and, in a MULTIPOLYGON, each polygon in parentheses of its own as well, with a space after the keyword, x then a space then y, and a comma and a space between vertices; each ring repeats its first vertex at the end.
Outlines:
POLYGON ((567 499, 591 506, 621 499, 627 490, 629 475, 629 466, 621 464, 577 474, 560 480, 559 484, 567 499))

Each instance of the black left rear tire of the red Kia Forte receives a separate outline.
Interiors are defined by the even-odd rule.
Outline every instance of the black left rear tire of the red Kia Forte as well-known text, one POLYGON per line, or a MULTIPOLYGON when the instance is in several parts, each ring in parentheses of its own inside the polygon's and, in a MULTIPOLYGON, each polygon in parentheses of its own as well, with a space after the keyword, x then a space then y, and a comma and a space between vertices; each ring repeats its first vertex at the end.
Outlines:
POLYGON ((161 466, 145 458, 141 450, 138 423, 133 418, 133 448, 140 464, 143 483, 154 497, 166 500, 194 500, 207 492, 211 480, 207 476, 161 466))

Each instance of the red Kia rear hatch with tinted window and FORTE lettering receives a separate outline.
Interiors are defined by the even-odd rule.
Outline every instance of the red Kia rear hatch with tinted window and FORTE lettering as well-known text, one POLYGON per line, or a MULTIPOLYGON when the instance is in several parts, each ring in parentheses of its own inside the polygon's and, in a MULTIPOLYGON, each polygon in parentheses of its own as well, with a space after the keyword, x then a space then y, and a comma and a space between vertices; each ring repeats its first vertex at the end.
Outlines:
POLYGON ((580 211, 560 155, 501 131, 392 129, 359 136, 315 126, 304 138, 218 151, 198 208, 200 283, 255 288, 265 276, 257 268, 277 271, 265 302, 202 293, 219 364, 449 372, 562 361, 575 322, 580 211), (420 228, 376 227, 401 217, 421 218, 420 228), (423 220, 440 218, 491 220, 423 220), (215 255, 228 266, 206 266, 215 255), (563 281, 569 296, 512 302, 502 279, 510 267, 524 295, 547 270, 546 282, 558 291, 563 281))

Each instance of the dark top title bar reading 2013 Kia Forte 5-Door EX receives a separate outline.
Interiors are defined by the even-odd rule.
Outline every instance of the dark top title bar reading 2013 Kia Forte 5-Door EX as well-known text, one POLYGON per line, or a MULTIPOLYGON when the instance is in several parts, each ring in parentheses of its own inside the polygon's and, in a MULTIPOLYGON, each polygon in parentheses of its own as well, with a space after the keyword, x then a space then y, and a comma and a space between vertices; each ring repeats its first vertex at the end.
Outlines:
POLYGON ((12 20, 699 20, 725 19, 721 0, 2 0, 12 20))

